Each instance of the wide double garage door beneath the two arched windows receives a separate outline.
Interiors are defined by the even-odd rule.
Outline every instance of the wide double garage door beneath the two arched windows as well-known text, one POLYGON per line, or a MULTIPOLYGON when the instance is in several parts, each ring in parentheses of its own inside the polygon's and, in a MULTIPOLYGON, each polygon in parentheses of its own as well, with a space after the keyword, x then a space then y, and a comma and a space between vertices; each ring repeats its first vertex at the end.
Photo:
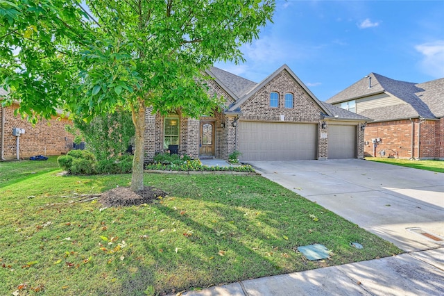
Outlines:
POLYGON ((317 124, 239 122, 242 161, 316 159, 317 124))

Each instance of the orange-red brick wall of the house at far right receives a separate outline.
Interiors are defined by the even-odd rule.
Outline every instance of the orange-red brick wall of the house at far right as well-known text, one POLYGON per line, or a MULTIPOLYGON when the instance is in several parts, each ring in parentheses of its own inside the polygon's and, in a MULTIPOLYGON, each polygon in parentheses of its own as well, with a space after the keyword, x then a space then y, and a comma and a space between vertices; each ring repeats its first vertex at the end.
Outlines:
POLYGON ((443 118, 421 122, 418 118, 370 122, 365 130, 364 154, 394 158, 443 159, 443 122, 443 118), (376 138, 381 141, 374 147, 372 139, 376 138))

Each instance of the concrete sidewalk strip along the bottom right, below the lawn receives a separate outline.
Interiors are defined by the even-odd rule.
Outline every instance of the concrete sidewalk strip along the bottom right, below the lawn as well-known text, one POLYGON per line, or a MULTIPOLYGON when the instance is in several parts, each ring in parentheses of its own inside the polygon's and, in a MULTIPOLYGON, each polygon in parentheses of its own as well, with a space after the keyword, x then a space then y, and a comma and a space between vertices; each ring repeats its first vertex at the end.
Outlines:
POLYGON ((444 247, 250 279, 186 296, 444 295, 444 247))

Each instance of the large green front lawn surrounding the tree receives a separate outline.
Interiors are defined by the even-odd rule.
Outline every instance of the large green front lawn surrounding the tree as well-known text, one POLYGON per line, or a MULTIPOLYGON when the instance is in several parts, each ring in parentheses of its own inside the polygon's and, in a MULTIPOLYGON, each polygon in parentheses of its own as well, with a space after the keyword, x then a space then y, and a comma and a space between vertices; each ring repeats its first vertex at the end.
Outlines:
POLYGON ((58 176, 31 165, 14 163, 0 188, 0 295, 24 285, 21 295, 172 293, 402 252, 262 176, 146 174, 169 196, 103 208, 72 201, 128 186, 129 174, 58 176), (296 252, 313 243, 331 258, 296 252))

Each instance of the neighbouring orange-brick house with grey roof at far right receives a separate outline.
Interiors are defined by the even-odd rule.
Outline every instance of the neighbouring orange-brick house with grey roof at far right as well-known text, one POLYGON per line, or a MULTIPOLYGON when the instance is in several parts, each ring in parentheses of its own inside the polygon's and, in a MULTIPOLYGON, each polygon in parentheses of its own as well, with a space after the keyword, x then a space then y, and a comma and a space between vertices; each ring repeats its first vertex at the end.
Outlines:
POLYGON ((327 102, 373 120, 366 156, 444 159, 444 78, 411 83, 370 73, 327 102))

